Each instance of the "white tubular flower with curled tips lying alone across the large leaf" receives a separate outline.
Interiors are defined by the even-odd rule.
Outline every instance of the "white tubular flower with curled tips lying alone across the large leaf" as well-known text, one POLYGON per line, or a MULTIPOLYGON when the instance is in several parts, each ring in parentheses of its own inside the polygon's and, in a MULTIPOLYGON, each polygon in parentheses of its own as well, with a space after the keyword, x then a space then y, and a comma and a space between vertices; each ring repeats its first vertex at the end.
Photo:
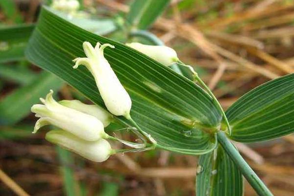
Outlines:
POLYGON ((130 119, 132 101, 120 80, 111 69, 108 61, 104 58, 103 49, 114 48, 110 44, 97 43, 95 48, 89 42, 83 43, 83 49, 87 58, 76 58, 73 60, 76 69, 79 65, 84 65, 95 78, 99 93, 107 109, 116 116, 124 116, 130 119))

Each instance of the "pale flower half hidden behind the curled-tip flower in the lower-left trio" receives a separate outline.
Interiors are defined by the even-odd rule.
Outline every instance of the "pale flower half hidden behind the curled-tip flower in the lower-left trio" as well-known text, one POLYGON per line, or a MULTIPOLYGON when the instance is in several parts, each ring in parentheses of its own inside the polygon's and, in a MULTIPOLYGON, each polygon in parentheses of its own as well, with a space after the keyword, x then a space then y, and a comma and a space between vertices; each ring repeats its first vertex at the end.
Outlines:
POLYGON ((98 105, 85 104, 79 100, 61 100, 59 103, 63 106, 96 117, 103 123, 104 127, 108 126, 113 121, 113 116, 98 105))

